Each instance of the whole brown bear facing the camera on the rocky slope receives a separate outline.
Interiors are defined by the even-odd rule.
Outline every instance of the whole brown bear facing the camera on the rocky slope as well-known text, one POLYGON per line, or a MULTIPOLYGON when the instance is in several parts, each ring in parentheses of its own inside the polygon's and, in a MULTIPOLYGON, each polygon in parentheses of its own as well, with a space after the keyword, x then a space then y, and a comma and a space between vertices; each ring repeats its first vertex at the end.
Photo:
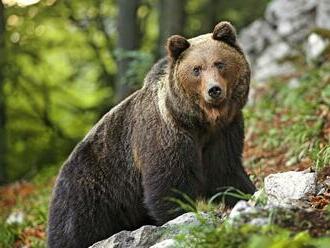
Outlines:
MULTIPOLYGON (((183 192, 205 199, 225 187, 252 194, 242 166, 250 69, 234 28, 172 36, 144 86, 108 112, 57 178, 48 246, 88 247, 121 230, 178 216, 183 192)), ((232 205, 237 199, 227 199, 232 205)))

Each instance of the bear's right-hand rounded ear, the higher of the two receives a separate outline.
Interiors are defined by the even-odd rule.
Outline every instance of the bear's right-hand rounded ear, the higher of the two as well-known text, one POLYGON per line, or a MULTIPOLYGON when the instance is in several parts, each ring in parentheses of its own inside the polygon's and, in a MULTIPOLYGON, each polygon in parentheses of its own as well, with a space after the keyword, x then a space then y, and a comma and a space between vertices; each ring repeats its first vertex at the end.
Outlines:
POLYGON ((229 45, 235 45, 236 30, 229 22, 219 22, 213 30, 212 38, 228 43, 229 45))

